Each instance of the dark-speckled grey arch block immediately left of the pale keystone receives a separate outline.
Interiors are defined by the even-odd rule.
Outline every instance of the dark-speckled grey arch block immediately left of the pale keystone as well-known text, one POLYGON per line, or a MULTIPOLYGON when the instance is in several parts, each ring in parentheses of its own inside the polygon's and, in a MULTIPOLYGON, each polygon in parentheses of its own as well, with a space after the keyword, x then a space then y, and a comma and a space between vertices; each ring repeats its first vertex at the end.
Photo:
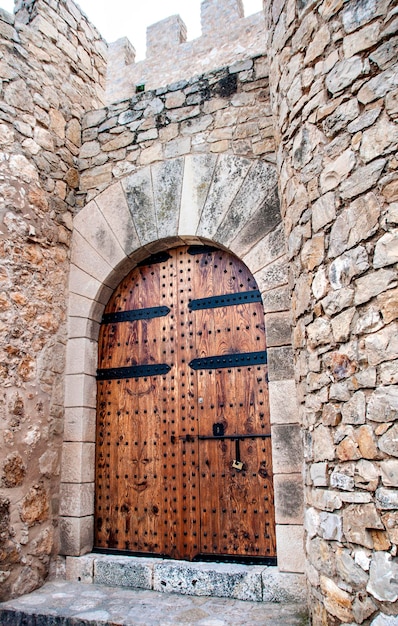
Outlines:
POLYGON ((161 239, 175 236, 180 214, 184 159, 158 163, 151 170, 158 236, 161 239))

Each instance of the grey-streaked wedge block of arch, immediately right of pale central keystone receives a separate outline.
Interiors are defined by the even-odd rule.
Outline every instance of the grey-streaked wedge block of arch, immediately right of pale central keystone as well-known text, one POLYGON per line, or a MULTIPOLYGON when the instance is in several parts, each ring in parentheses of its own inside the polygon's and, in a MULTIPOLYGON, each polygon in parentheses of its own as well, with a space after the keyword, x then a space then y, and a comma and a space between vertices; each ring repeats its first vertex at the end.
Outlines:
POLYGON ((248 159, 224 155, 218 160, 197 233, 212 238, 249 172, 248 159))

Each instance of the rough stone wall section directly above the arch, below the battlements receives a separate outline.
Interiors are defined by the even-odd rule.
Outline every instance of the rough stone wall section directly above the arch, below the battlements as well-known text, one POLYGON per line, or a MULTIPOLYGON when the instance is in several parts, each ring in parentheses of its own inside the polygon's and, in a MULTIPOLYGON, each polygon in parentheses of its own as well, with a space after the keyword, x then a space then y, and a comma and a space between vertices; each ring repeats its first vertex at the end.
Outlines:
POLYGON ((87 113, 82 126, 82 205, 140 167, 187 154, 275 162, 268 63, 248 58, 138 94, 87 113))

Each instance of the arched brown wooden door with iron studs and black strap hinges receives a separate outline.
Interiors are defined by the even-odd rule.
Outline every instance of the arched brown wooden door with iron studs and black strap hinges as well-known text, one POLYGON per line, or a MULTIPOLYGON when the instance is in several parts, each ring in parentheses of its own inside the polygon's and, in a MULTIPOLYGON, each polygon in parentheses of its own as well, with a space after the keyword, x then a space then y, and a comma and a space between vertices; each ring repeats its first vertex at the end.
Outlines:
POLYGON ((99 338, 96 547, 275 557, 264 315, 232 255, 150 257, 99 338))

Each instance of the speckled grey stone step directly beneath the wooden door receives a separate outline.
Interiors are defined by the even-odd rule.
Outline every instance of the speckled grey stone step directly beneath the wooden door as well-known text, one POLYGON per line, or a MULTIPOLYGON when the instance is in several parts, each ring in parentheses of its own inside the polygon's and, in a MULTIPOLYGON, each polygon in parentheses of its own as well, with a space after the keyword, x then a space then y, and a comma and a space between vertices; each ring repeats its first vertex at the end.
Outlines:
POLYGON ((66 558, 70 582, 251 602, 306 604, 303 574, 277 567, 87 554, 66 558))

